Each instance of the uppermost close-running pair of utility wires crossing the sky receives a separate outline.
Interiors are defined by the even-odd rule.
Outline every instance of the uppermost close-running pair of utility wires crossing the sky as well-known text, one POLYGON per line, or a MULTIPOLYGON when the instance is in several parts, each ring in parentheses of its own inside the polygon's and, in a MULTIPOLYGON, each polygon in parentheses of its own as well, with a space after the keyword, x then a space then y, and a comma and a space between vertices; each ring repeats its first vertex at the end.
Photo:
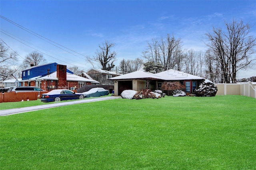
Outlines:
MULTIPOLYGON (((32 35, 34 35, 34 36, 36 36, 36 37, 38 37, 38 38, 44 40, 44 41, 48 40, 48 41, 51 41, 51 42, 55 43, 54 41, 52 41, 52 40, 50 40, 50 39, 48 39, 48 38, 46 38, 46 37, 44 37, 44 36, 42 36, 42 35, 39 35, 38 33, 35 33, 34 31, 31 31, 30 29, 27 29, 26 27, 23 27, 22 25, 19 25, 18 23, 15 23, 14 21, 9 20, 8 18, 5 18, 4 16, 1 16, 1 15, 0 15, 0 17, 1 17, 2 19, 6 20, 6 21, 8 21, 8 22, 10 22, 10 23, 12 23, 13 25, 16 25, 17 27, 23 29, 24 31, 27 31, 28 33, 30 33, 30 34, 32 34, 32 35), (42 38, 41 38, 41 37, 42 37, 42 38), (45 40, 45 39, 46 39, 46 40, 45 40)), ((46 41, 46 42, 47 42, 47 43, 50 43, 50 42, 48 42, 48 41, 46 41)), ((50 44, 54 45, 53 43, 50 43, 50 44)), ((61 46, 61 47, 64 47, 63 45, 60 45, 60 44, 58 44, 58 43, 55 43, 55 44, 57 44, 57 45, 59 45, 59 46, 61 46)), ((54 45, 54 46, 55 46, 55 47, 58 47, 57 45, 54 45)), ((60 48, 60 47, 58 47, 58 48, 59 48, 59 49, 62 49, 62 48, 60 48)), ((67 48, 67 47, 64 47, 64 48, 66 48, 66 49, 68 49, 68 50, 70 50, 70 51, 73 51, 72 49, 69 49, 69 48, 67 48)), ((62 50, 64 50, 64 49, 62 49, 62 50)), ((64 51, 66 51, 66 50, 64 50, 64 51)), ((66 51, 66 52, 70 53, 69 51, 66 51)), ((74 52, 74 53, 77 53, 76 51, 73 51, 73 52, 74 52)), ((70 54, 74 55, 73 53, 70 53, 70 54)), ((82 55, 82 54, 80 54, 80 53, 77 53, 77 54, 82 55)), ((79 56, 77 56, 77 55, 74 55, 74 56, 79 57, 79 56)), ((86 57, 85 55, 82 55, 82 56, 86 57)), ((80 59, 83 59, 83 58, 81 58, 81 57, 79 57, 79 58, 80 58, 80 59)))

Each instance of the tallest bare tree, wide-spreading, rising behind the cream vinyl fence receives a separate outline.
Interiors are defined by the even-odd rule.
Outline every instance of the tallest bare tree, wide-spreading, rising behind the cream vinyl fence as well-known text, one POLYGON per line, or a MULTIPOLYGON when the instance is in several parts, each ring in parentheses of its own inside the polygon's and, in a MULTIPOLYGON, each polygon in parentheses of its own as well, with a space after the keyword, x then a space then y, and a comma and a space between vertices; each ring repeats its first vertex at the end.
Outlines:
POLYGON ((206 45, 220 66, 222 82, 235 83, 238 70, 250 67, 255 60, 251 55, 255 53, 256 39, 250 35, 250 25, 233 20, 226 23, 226 31, 213 27, 213 32, 206 33, 206 37, 206 45))

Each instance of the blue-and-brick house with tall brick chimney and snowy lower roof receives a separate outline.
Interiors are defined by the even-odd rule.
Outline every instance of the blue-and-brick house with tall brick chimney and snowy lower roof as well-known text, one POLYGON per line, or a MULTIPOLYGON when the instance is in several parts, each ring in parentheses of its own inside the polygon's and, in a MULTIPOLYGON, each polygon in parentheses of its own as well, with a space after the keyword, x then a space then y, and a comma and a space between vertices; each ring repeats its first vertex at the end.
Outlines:
POLYGON ((36 86, 43 90, 70 89, 75 90, 95 80, 76 76, 66 68, 66 65, 57 63, 32 66, 22 70, 22 86, 36 86))

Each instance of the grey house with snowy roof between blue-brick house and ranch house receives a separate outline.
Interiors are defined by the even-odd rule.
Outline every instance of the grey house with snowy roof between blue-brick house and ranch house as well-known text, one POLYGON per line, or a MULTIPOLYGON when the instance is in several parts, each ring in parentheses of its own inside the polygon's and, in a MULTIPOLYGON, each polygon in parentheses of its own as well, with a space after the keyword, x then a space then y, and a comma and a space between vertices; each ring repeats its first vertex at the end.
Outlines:
POLYGON ((94 80, 100 82, 100 85, 114 85, 114 81, 111 80, 110 78, 121 75, 116 72, 94 69, 94 68, 86 72, 86 74, 88 74, 88 76, 90 76, 94 80))

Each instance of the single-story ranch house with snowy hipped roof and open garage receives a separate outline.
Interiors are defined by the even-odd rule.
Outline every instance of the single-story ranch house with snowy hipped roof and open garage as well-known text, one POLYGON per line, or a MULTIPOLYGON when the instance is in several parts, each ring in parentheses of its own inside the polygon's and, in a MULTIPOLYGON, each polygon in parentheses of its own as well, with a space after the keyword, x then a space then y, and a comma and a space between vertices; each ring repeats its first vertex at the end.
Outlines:
POLYGON ((111 78, 114 80, 114 95, 119 96, 123 90, 160 89, 163 82, 178 81, 185 86, 186 93, 193 94, 194 89, 205 79, 177 70, 166 70, 157 74, 138 70, 111 78))

